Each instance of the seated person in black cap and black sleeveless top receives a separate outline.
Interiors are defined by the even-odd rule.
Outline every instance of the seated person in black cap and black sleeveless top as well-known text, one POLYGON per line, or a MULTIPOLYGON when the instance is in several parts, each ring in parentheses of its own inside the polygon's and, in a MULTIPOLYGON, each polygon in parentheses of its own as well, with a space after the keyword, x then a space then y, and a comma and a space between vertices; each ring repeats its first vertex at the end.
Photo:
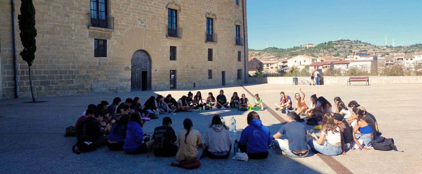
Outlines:
POLYGON ((344 119, 344 116, 341 114, 335 113, 333 115, 333 118, 334 118, 334 123, 338 125, 338 127, 340 128, 340 133, 343 134, 343 138, 344 138, 343 152, 345 152, 346 149, 347 150, 352 149, 352 143, 353 143, 352 126, 349 125, 346 119, 344 119))

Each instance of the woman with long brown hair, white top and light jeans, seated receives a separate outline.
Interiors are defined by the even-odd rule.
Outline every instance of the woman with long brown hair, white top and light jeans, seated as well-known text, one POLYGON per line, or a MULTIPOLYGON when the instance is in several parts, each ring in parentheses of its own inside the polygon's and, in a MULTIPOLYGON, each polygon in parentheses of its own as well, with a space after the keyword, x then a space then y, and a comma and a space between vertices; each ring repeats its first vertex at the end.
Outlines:
POLYGON ((321 135, 317 137, 315 133, 312 133, 311 136, 314 138, 308 141, 311 150, 327 156, 346 155, 343 134, 340 133, 340 128, 334 123, 332 113, 325 114, 322 119, 321 135))

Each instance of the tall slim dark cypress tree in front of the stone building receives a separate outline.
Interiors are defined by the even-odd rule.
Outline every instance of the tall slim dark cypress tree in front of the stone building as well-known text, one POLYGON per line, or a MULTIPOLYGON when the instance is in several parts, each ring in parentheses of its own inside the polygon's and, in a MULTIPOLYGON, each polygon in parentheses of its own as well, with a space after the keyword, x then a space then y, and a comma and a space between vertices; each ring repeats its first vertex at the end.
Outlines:
POLYGON ((37 36, 37 29, 35 28, 35 8, 34 4, 32 4, 32 0, 22 0, 20 11, 21 14, 18 15, 18 22, 21 33, 19 33, 19 36, 21 38, 22 46, 24 47, 20 55, 28 64, 32 102, 36 102, 31 80, 31 65, 34 62, 35 51, 37 50, 35 41, 35 37, 37 36))

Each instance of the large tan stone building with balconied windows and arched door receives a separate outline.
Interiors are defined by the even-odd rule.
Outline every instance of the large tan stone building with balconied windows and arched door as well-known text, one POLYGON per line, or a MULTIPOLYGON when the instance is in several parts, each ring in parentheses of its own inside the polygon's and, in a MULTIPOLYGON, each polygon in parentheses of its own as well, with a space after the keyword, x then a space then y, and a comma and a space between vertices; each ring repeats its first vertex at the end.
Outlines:
MULTIPOLYGON (((30 96, 12 0, 0 1, 0 98, 30 96)), ((33 0, 36 96, 245 82, 246 0, 33 0)))

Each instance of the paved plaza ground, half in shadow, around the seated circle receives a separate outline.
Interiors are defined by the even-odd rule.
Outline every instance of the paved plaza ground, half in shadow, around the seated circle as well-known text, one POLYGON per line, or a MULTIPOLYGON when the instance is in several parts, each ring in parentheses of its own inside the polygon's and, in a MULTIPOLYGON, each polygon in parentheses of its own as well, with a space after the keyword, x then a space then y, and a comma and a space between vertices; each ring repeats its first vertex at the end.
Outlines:
MULTIPOLYGON (((30 98, 0 101, 0 166, 1 173, 420 173, 422 171, 422 87, 421 84, 376 84, 370 86, 321 85, 293 86, 287 84, 245 84, 242 86, 178 89, 170 91, 144 91, 128 93, 105 93, 94 95, 71 95, 56 97, 39 97, 44 103, 23 103, 30 98), (395 151, 359 151, 349 150, 347 155, 325 157, 310 152, 306 158, 289 158, 276 150, 270 149, 270 155, 264 160, 247 162, 232 160, 233 152, 228 159, 214 160, 201 158, 198 169, 187 171, 170 166, 176 162, 174 157, 149 157, 147 154, 127 155, 123 151, 113 152, 100 148, 94 152, 77 155, 71 147, 75 137, 63 137, 65 128, 75 125, 76 120, 88 104, 98 104, 101 100, 109 103, 114 97, 140 97, 141 103, 149 96, 172 94, 178 99, 189 91, 202 92, 206 98, 208 92, 218 95, 225 90, 228 99, 233 92, 246 94, 252 100, 252 94, 259 93, 266 106, 265 111, 257 111, 262 123, 276 133, 285 114, 274 111, 274 103, 280 99, 279 93, 284 91, 291 96, 301 87, 306 93, 306 103, 311 104, 312 94, 324 96, 333 103, 336 96, 347 104, 355 100, 365 106, 378 121, 382 136, 393 138, 398 150, 395 151)), ((333 107, 334 108, 334 107, 333 107)), ((177 133, 183 129, 183 120, 190 118, 194 129, 205 135, 214 114, 224 116, 226 124, 232 116, 237 121, 237 128, 246 127, 246 115, 249 111, 237 109, 215 109, 203 112, 179 112, 170 115, 173 128, 177 133)), ((155 127, 161 125, 162 117, 146 122, 143 130, 152 135, 155 127)), ((305 124, 305 122, 302 122, 305 124)), ((307 129, 313 126, 306 125, 307 129)), ((233 140, 239 139, 240 132, 231 134, 233 140)), ((152 155, 149 152, 149 155, 152 155)))

